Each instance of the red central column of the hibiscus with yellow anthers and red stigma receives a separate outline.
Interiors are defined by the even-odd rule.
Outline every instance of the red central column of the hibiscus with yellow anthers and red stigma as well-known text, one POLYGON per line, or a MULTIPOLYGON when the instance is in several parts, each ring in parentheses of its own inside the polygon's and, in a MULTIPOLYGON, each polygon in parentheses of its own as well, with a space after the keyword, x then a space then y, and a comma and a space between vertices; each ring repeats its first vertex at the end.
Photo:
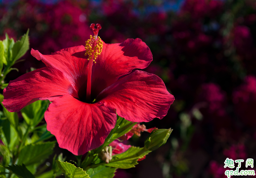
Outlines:
POLYGON ((94 36, 90 35, 90 39, 86 41, 86 54, 85 56, 88 55, 89 58, 87 59, 89 61, 88 64, 88 76, 87 76, 87 90, 86 90, 86 101, 88 103, 91 102, 91 85, 92 85, 92 68, 93 68, 93 63, 96 64, 96 58, 101 54, 102 48, 103 48, 103 42, 101 38, 98 36, 98 32, 101 29, 101 25, 97 24, 96 27, 94 28, 95 24, 92 23, 90 28, 94 32, 94 36))

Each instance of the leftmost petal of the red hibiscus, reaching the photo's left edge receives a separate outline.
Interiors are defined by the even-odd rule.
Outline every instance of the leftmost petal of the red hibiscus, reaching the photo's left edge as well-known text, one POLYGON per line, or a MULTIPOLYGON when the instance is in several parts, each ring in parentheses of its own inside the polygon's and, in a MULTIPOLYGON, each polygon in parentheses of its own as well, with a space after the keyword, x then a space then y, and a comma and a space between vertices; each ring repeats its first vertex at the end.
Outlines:
POLYGON ((44 67, 10 81, 4 90, 3 105, 10 112, 19 112, 37 100, 53 101, 65 94, 77 95, 61 71, 44 67))

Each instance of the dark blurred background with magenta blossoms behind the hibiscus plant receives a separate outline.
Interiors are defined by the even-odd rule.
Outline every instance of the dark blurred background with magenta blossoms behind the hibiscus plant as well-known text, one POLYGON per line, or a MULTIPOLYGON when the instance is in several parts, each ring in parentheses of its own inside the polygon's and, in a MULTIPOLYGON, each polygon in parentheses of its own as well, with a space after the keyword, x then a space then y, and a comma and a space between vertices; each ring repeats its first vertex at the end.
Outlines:
MULTIPOLYGON (((174 131, 115 178, 226 177, 227 157, 256 159, 255 0, 0 0, 0 19, 1 40, 29 28, 30 48, 42 54, 84 45, 91 23, 101 24, 106 43, 141 38, 149 46, 153 62, 145 71, 162 78, 176 100, 162 120, 144 124, 174 131)), ((8 81, 45 67, 30 51, 22 59, 8 81)), ((143 146, 147 136, 127 144, 143 146)), ((75 160, 58 146, 55 152, 75 160)))

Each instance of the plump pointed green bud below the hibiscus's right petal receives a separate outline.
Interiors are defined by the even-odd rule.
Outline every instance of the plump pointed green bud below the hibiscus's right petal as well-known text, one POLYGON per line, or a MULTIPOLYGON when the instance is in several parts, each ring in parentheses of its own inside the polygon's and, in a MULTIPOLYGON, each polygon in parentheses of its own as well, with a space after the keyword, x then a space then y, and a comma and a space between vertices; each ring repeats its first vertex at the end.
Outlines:
POLYGON ((148 139, 145 141, 145 147, 150 150, 154 151, 160 146, 164 145, 167 141, 167 139, 170 136, 170 133, 173 131, 173 129, 157 129, 153 131, 148 139))

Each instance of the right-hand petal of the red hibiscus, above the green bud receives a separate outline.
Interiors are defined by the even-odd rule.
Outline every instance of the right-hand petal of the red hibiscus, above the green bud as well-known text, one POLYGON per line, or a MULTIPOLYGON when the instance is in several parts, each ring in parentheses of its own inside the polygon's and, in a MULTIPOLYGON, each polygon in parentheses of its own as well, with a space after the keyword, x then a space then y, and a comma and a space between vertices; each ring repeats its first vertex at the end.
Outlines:
POLYGON ((174 102, 158 76, 144 71, 135 72, 119 79, 102 91, 98 98, 106 107, 132 122, 148 122, 162 119, 174 102))

